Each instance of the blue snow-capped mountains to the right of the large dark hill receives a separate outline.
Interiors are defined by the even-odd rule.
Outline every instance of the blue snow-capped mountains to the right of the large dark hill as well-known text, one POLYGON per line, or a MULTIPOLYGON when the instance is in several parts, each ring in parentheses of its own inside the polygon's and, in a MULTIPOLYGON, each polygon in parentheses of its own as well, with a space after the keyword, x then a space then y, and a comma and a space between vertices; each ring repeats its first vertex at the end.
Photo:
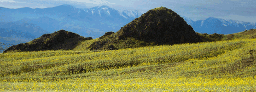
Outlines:
POLYGON ((187 24, 191 25, 192 28, 198 33, 207 33, 207 34, 233 34, 242 32, 245 29, 255 29, 256 22, 243 22, 237 20, 227 20, 215 17, 209 17, 205 20, 193 21, 188 17, 181 16, 187 22, 187 24))

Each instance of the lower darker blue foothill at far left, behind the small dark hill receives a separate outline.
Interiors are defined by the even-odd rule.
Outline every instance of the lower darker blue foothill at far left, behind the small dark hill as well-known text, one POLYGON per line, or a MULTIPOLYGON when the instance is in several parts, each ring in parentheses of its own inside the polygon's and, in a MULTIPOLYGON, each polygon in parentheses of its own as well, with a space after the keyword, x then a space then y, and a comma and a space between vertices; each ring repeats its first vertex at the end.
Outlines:
POLYGON ((29 42, 43 34, 49 32, 42 29, 40 26, 22 21, 0 23, 0 52, 6 50, 12 45, 29 42))

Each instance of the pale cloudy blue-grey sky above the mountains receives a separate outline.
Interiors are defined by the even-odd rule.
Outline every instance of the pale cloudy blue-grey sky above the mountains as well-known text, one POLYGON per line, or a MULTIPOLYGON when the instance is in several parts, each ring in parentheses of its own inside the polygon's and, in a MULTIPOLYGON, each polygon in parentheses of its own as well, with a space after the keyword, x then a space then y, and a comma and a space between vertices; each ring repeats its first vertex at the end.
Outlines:
POLYGON ((68 4, 76 8, 110 6, 116 10, 139 10, 167 7, 193 21, 208 17, 256 22, 256 0, 0 0, 0 7, 17 9, 48 8, 68 4))

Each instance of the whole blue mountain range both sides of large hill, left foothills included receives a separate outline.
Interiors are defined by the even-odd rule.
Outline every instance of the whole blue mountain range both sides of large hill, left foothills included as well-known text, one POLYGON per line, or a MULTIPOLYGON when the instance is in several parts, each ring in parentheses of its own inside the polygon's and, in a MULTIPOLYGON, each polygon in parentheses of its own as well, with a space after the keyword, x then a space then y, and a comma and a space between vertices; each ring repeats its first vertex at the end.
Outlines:
MULTIPOLYGON (((50 34, 60 29, 95 39, 109 31, 117 32, 121 27, 143 14, 138 10, 117 11, 109 6, 80 9, 71 5, 43 9, 0 7, 0 11, 2 17, 0 18, 0 40, 13 44, 28 42, 43 34, 50 34), (6 40, 8 37, 12 40, 6 40)), ((256 27, 256 23, 250 22, 215 17, 193 21, 188 17, 180 16, 198 33, 226 35, 256 27)))

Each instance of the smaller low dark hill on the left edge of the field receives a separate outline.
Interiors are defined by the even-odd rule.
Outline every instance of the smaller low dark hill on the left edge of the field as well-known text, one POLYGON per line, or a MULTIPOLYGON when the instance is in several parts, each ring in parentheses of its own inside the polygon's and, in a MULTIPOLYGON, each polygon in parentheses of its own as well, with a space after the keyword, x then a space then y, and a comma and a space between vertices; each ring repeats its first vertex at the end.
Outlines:
POLYGON ((5 52, 25 52, 25 51, 45 51, 45 50, 71 50, 82 40, 91 40, 72 32, 59 30, 52 34, 44 34, 28 43, 14 45, 6 49, 5 52))

